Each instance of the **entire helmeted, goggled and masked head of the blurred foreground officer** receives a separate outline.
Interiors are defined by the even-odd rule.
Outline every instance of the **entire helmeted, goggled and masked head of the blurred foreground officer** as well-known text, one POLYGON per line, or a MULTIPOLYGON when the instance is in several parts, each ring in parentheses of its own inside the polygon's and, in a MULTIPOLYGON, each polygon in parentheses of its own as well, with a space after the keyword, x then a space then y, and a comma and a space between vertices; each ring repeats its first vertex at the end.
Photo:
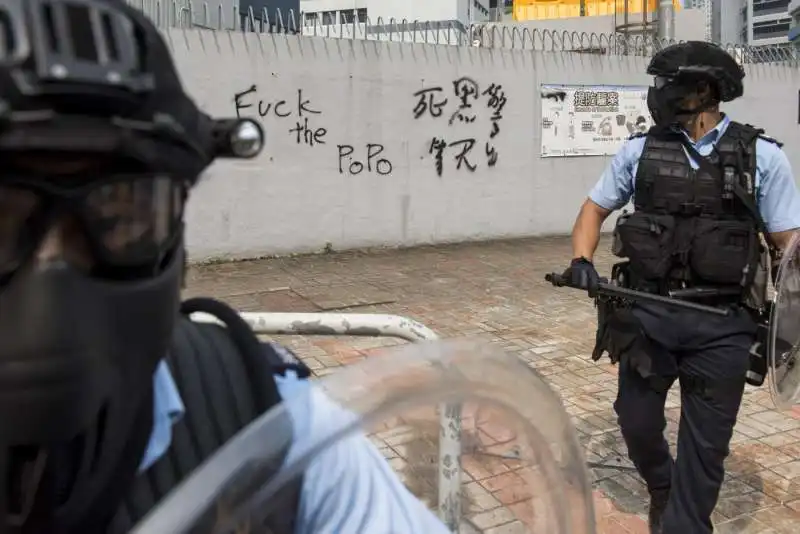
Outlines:
POLYGON ((0 2, 0 532, 104 532, 152 432, 189 189, 263 131, 122 0, 0 2))

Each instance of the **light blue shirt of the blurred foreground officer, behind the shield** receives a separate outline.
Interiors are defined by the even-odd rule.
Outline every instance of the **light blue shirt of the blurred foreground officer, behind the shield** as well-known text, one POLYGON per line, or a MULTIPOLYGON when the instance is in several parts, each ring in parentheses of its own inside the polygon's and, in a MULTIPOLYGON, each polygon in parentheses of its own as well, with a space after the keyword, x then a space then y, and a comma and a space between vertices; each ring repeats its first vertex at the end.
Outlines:
MULTIPOLYGON (((354 418, 308 380, 294 373, 276 376, 294 425, 287 461, 303 454, 354 418)), ((172 425, 185 411, 166 362, 154 376, 155 419, 140 470, 152 466, 169 448, 172 425)), ((340 440, 309 464, 297 511, 297 534, 350 532, 424 532, 447 534, 436 516, 412 495, 389 463, 363 434, 340 440)))

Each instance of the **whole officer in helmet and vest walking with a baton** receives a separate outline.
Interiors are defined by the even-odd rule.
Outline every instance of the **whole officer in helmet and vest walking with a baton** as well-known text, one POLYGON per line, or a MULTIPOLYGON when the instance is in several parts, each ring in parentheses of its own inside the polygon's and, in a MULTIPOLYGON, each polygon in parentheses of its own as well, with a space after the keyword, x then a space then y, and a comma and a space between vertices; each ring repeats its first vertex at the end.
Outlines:
POLYGON ((626 258, 612 277, 639 291, 730 310, 728 316, 656 304, 599 308, 593 358, 619 362, 614 409, 628 454, 650 492, 651 532, 712 532, 711 513, 766 303, 767 250, 800 227, 798 194, 780 143, 719 110, 743 94, 742 68, 710 43, 657 53, 648 107, 655 126, 612 159, 581 207, 568 283, 591 288, 603 221, 633 200, 615 229, 626 258), (763 238, 768 247, 763 246, 763 238), (664 439, 664 404, 681 385, 677 459, 664 439))

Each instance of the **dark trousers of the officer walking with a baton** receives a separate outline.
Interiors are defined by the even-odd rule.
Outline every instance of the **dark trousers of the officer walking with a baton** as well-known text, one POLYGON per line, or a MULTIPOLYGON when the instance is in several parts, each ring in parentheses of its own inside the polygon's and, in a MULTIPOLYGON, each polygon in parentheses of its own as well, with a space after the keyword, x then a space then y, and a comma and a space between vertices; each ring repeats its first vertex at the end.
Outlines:
POLYGON ((667 388, 680 380, 681 420, 673 460, 664 437, 667 391, 654 389, 632 368, 636 354, 623 355, 614 410, 629 457, 650 491, 670 488, 664 534, 711 534, 755 321, 740 308, 730 317, 653 305, 633 313, 648 339, 631 351, 647 352, 653 369, 667 376, 667 388))

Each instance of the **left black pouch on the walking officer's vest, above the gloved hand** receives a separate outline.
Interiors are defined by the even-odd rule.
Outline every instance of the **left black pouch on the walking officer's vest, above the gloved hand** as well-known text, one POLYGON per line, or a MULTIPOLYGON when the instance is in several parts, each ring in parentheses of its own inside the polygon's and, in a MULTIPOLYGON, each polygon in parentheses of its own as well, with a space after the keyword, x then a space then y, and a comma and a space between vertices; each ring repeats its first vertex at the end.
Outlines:
POLYGON ((621 247, 620 257, 630 260, 631 270, 646 280, 665 277, 672 267, 675 218, 633 212, 618 222, 616 234, 621 247))

